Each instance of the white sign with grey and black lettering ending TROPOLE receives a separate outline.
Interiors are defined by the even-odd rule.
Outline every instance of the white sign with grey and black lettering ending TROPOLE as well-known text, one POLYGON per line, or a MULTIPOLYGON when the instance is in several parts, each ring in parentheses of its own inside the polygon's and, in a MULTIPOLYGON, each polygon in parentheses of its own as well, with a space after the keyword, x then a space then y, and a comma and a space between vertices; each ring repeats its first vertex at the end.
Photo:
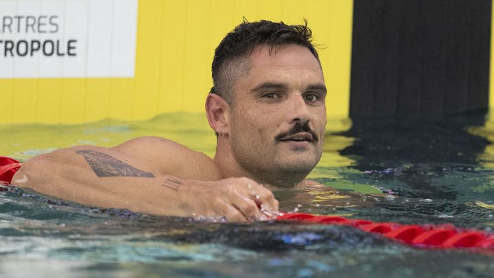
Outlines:
POLYGON ((137 0, 1 0, 0 78, 132 78, 137 0))

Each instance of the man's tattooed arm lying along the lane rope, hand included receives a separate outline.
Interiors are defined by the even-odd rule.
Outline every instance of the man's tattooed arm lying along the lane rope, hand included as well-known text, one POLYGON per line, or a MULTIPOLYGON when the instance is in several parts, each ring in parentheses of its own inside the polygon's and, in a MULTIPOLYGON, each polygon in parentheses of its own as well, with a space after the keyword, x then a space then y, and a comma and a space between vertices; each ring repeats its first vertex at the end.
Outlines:
POLYGON ((177 178, 117 155, 125 157, 102 148, 44 154, 23 163, 12 185, 84 205, 166 216, 247 221, 277 213, 272 192, 249 178, 177 178))

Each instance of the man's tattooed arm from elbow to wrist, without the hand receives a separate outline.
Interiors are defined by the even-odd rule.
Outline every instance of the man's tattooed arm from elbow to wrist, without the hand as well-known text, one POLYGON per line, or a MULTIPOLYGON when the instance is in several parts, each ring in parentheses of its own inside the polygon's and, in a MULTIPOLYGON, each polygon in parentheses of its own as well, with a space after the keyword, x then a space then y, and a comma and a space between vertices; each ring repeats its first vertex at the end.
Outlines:
MULTIPOLYGON (((12 185, 95 207, 131 209, 143 213, 185 216, 178 204, 184 181, 157 176, 95 150, 79 150, 88 165, 67 163, 56 154, 26 161, 12 185)), ((189 183, 194 183, 190 181, 189 183)))

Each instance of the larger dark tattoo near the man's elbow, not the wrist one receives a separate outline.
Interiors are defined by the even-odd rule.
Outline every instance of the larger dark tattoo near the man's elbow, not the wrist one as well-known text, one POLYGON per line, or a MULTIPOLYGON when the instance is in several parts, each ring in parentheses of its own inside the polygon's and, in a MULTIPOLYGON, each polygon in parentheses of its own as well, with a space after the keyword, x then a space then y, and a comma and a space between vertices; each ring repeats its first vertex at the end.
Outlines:
POLYGON ((103 152, 97 150, 78 150, 78 154, 82 154, 86 159, 91 169, 95 172, 96 176, 139 176, 145 178, 154 178, 154 175, 150 172, 144 172, 136 169, 124 161, 116 159, 103 152))

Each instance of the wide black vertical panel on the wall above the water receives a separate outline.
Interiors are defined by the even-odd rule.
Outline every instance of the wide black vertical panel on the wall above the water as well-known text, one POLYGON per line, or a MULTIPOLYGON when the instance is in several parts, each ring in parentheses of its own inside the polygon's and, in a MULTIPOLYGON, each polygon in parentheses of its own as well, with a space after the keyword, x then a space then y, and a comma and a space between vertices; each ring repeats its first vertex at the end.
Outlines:
POLYGON ((355 0, 351 117, 487 109, 491 0, 355 0))

